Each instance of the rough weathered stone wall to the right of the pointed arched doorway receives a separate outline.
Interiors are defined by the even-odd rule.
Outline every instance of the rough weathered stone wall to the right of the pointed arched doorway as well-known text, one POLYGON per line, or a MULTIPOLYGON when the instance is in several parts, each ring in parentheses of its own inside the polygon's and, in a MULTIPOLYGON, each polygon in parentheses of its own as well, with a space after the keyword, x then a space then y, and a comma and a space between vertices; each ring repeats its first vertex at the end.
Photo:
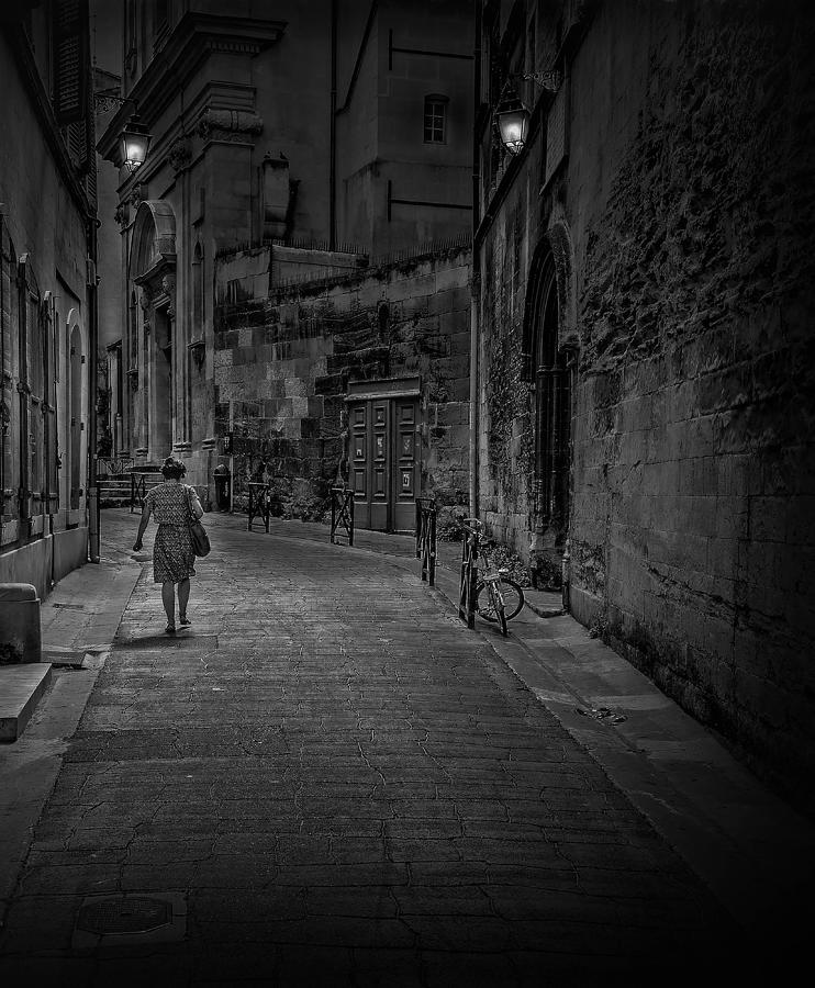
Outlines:
POLYGON ((792 790, 815 770, 815 36, 696 7, 583 240, 572 596, 792 790))

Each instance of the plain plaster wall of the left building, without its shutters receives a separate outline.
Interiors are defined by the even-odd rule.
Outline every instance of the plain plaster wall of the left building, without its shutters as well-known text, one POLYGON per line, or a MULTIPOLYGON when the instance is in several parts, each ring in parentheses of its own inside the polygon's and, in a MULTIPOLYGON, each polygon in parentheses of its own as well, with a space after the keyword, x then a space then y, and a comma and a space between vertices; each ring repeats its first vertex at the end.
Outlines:
MULTIPOLYGON (((47 68, 43 53, 47 53, 47 23, 44 12, 34 19, 34 49, 31 57, 38 68, 47 68)), ((59 580, 69 570, 87 559, 87 518, 85 497, 88 490, 87 424, 88 371, 92 360, 88 353, 88 328, 85 325, 85 299, 88 245, 86 240, 85 206, 71 195, 69 186, 48 141, 46 124, 35 112, 35 90, 27 72, 15 53, 15 45, 26 44, 10 25, 0 30, 0 89, 5 97, 3 114, 3 141, 0 142, 0 215, 2 216, 2 258, 0 259, 0 332, 3 336, 3 366, 0 368, 0 412, 8 414, 8 434, 0 456, 5 458, 4 492, 0 491, 0 582, 32 583, 41 597, 51 591, 52 575, 59 580), (18 261, 26 258, 32 284, 36 288, 36 305, 51 299, 53 303, 53 335, 51 339, 55 377, 42 368, 40 337, 31 323, 27 326, 27 377, 20 355, 19 312, 23 297, 18 284, 18 261), (83 492, 79 506, 70 507, 71 422, 70 348, 71 330, 77 327, 79 351, 85 361, 76 395, 78 418, 85 424, 76 451, 77 487, 83 492), (36 362, 34 362, 36 361, 36 362), (55 405, 56 422, 51 454, 62 457, 62 469, 56 473, 58 501, 52 497, 51 513, 44 506, 38 484, 33 484, 34 517, 31 523, 19 519, 18 489, 21 480, 21 420, 20 396, 27 393, 36 380, 40 367, 40 394, 42 382, 47 381, 51 403, 55 405), (4 496, 3 496, 4 495, 4 496), (25 544, 27 540, 27 544, 25 544), (54 566, 52 568, 52 558, 54 566)), ((47 75, 47 72, 46 72, 47 75)), ((2 416, 0 416, 2 417, 2 416)), ((30 408, 27 447, 22 452, 34 459, 32 452, 44 462, 43 433, 36 433, 42 424, 42 406, 30 408), (38 422, 37 422, 38 417, 38 422)), ((52 495, 56 494, 54 487, 52 495)))

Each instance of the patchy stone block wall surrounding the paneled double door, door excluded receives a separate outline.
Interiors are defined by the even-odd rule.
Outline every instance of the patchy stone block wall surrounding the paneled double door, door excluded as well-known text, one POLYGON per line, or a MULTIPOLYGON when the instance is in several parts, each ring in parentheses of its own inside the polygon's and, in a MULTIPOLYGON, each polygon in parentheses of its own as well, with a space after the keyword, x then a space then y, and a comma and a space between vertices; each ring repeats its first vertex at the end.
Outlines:
MULTIPOLYGON (((234 273, 238 260, 228 265, 234 273)), ((422 493, 465 505, 469 280, 469 249, 451 249, 261 300, 221 299, 215 424, 224 436, 232 415, 237 502, 266 469, 277 513, 321 516, 344 449, 348 382, 418 374, 422 493)))

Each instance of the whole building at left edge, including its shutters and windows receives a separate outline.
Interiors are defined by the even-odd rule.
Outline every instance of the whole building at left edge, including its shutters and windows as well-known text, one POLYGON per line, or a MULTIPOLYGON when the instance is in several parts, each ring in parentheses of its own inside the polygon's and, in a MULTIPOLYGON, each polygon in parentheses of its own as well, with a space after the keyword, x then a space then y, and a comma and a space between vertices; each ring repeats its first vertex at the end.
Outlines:
POLYGON ((31 583, 41 597, 89 548, 96 169, 87 13, 78 0, 0 11, 0 583, 31 583))

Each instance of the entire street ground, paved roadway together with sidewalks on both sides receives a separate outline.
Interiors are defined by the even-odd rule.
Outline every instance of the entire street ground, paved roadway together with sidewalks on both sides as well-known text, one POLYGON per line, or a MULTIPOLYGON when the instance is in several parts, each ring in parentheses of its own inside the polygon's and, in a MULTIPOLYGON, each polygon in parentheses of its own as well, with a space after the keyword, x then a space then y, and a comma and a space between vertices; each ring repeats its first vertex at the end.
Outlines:
POLYGON ((762 944, 781 974, 812 828, 571 618, 468 631, 450 560, 431 591, 411 539, 204 520, 192 633, 161 635, 148 568, 124 609, 125 512, 103 514, 110 562, 53 595, 94 617, 54 607, 49 647, 101 649, 124 617, 79 730, 64 718, 58 777, 57 685, 90 692, 96 672, 64 672, 18 742, 19 788, 48 743, 56 785, 0 970, 123 984, 127 956, 134 983, 665 984, 700 956, 758 965, 762 944), (82 932, 105 896, 174 920, 158 940, 82 932))

